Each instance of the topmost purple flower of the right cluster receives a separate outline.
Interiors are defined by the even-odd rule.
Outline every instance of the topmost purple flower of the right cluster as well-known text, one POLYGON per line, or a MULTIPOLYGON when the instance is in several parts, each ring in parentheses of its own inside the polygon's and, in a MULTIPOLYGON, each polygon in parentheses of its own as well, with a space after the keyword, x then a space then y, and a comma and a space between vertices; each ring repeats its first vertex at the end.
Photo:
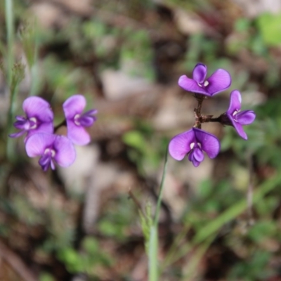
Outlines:
POLYGON ((186 91, 201 93, 205 96, 214 96, 230 87, 231 77, 226 70, 220 68, 211 74, 208 79, 206 79, 206 76, 207 66, 197 63, 192 72, 193 79, 182 75, 178 79, 178 85, 186 91))

